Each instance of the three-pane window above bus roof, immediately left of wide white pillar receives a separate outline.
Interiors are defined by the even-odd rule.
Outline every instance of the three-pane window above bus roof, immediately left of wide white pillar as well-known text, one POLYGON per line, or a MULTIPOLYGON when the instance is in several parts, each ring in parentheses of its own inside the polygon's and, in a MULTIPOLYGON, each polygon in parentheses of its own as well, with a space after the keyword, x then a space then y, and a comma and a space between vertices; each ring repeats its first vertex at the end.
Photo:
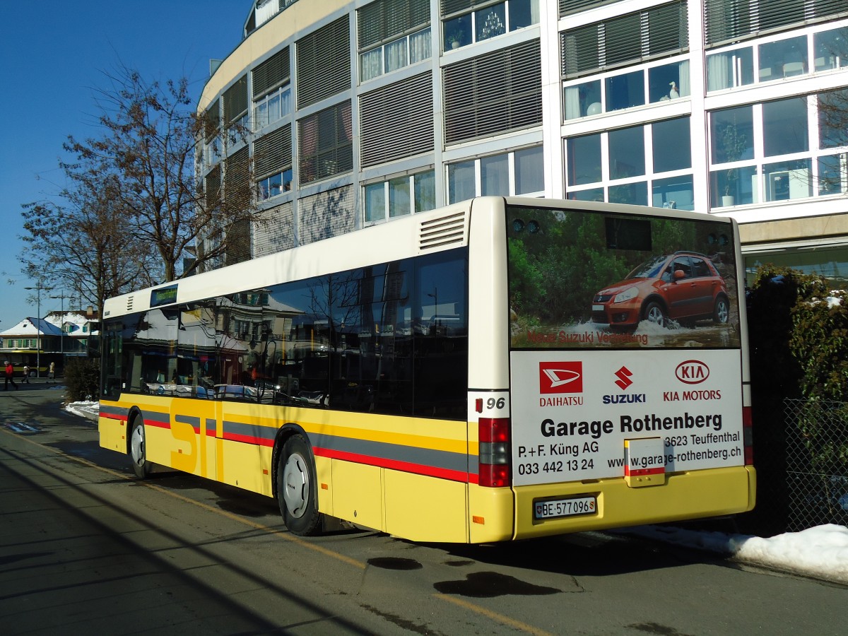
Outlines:
POLYGON ((448 165, 449 203, 487 195, 511 197, 534 194, 544 194, 541 146, 448 165))

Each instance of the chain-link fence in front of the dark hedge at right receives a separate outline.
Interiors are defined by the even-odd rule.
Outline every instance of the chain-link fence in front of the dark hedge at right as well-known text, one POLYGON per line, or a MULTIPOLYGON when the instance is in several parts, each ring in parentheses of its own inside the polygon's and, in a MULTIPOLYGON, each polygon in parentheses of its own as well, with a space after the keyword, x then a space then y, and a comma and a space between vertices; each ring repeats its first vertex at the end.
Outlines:
POLYGON ((788 532, 848 526, 848 403, 785 399, 788 532))

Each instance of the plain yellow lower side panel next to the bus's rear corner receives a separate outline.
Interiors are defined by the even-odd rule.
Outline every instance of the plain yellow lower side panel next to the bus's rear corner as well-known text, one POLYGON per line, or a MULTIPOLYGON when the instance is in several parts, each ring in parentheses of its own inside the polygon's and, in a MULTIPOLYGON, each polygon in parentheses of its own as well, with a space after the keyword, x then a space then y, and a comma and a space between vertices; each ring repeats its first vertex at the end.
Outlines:
POLYGON ((386 532, 412 541, 466 543, 466 484, 385 470, 386 532))

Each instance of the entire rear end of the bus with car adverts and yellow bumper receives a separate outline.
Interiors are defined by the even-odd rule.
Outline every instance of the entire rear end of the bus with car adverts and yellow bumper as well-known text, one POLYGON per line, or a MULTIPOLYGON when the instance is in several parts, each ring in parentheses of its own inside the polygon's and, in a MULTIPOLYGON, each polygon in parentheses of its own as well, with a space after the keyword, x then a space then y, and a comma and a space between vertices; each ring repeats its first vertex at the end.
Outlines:
POLYGON ((508 200, 505 226, 509 391, 476 410, 512 538, 751 510, 733 221, 508 200))

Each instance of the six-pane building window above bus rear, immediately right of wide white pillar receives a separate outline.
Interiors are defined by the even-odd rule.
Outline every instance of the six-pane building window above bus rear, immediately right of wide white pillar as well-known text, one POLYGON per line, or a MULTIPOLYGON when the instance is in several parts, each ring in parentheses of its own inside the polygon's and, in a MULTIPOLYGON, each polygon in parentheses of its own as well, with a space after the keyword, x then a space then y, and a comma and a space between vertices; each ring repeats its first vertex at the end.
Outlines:
POLYGON ((566 140, 568 198, 695 209, 689 118, 566 140))

